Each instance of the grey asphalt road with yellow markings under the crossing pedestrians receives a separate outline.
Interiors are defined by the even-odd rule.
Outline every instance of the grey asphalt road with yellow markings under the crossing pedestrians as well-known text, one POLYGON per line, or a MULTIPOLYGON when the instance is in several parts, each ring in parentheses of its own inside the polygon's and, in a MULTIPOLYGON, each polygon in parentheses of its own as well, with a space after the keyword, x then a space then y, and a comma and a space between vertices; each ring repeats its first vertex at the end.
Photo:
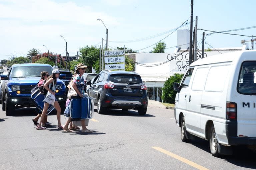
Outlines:
MULTIPOLYGON (((147 114, 111 110, 94 112, 88 128, 93 133, 64 133, 52 127, 36 130, 33 109, 16 110, 17 116, 0 111, 0 169, 255 169, 256 154, 244 147, 232 156, 213 157, 208 141, 184 143, 174 112, 149 104, 147 114)), ((62 115, 62 124, 65 117, 62 115)))

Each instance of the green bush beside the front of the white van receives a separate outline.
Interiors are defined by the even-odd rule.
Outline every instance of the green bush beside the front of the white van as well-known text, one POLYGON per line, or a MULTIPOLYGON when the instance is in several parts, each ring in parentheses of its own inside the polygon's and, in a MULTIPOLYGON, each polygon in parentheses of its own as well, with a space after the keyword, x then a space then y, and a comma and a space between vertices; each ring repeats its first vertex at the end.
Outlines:
POLYGON ((164 83, 162 100, 165 103, 174 104, 177 91, 173 89, 173 83, 179 83, 183 75, 184 74, 174 74, 174 76, 170 76, 164 83))

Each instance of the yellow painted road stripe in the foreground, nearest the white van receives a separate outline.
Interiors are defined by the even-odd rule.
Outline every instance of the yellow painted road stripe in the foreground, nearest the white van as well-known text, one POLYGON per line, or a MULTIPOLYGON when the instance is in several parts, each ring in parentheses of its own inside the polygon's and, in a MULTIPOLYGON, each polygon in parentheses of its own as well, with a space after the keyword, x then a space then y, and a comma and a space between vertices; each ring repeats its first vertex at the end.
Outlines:
POLYGON ((156 149, 156 150, 158 150, 158 151, 160 151, 160 152, 162 152, 162 153, 164 153, 164 154, 166 154, 166 155, 169 155, 169 156, 171 156, 171 157, 173 157, 173 158, 175 158, 175 159, 178 159, 178 160, 180 160, 180 161, 182 161, 182 162, 184 162, 184 163, 186 163, 186 164, 188 164, 188 165, 190 165, 190 166, 193 166, 193 167, 195 167, 195 168, 197 168, 197 169, 199 169, 199 170, 209 170, 209 169, 207 169, 207 168, 205 168, 205 167, 203 167, 203 166, 201 166, 201 165, 198 165, 198 164, 196 164, 196 163, 194 163, 194 162, 192 162, 192 161, 190 161, 190 160, 187 160, 187 159, 185 159, 185 158, 183 158, 183 157, 181 157, 181 156, 178 156, 178 155, 176 155, 176 154, 174 154, 174 153, 171 153, 171 152, 169 152, 169 151, 167 151, 167 150, 164 150, 164 149, 162 149, 162 148, 160 148, 160 147, 154 146, 154 147, 152 147, 152 148, 154 148, 154 149, 156 149))

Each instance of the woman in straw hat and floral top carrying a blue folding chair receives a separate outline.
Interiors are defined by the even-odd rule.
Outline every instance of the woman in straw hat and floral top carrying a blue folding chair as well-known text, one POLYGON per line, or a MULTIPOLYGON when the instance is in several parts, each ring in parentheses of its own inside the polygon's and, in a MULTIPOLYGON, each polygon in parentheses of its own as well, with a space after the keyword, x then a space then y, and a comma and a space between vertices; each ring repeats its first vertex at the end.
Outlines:
MULTIPOLYGON (((83 83, 83 82, 81 82, 81 77, 85 73, 86 68, 87 68, 87 66, 83 65, 82 63, 78 63, 77 68, 76 68, 76 74, 72 79, 72 82, 73 82, 72 87, 76 91, 77 96, 80 96, 80 97, 84 97, 84 88, 80 88, 81 90, 79 90, 77 86, 80 85, 81 83, 83 83)), ((68 106, 66 107, 66 109, 64 111, 65 116, 68 117, 68 120, 67 120, 65 126, 63 127, 63 131, 65 131, 65 132, 71 132, 70 129, 74 130, 74 127, 72 127, 72 126, 70 128, 68 128, 68 125, 71 123, 71 118, 69 115, 69 106, 70 106, 70 103, 68 104, 68 106)), ((86 128, 85 120, 81 120, 81 124, 82 124, 82 128, 83 128, 82 132, 92 132, 91 130, 86 128)))

